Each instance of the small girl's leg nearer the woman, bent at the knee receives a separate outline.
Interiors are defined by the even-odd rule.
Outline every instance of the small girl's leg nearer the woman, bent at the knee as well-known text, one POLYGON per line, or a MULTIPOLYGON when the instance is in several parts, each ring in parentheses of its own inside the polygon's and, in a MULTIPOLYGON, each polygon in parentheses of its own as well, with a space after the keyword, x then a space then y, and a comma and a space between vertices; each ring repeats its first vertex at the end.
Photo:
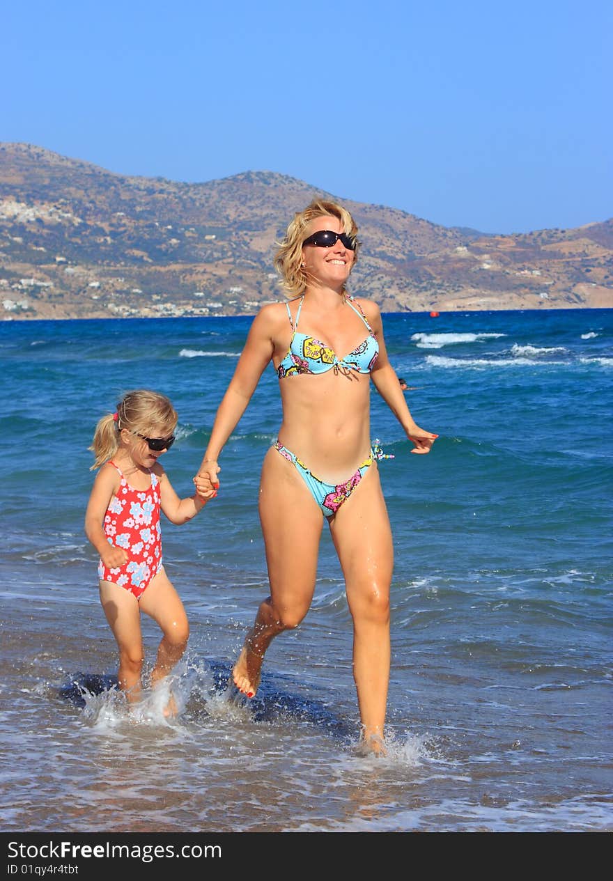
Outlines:
POLYGON ((163 567, 142 594, 140 607, 159 625, 163 634, 155 667, 151 670, 151 685, 155 686, 181 661, 189 638, 188 616, 163 567))

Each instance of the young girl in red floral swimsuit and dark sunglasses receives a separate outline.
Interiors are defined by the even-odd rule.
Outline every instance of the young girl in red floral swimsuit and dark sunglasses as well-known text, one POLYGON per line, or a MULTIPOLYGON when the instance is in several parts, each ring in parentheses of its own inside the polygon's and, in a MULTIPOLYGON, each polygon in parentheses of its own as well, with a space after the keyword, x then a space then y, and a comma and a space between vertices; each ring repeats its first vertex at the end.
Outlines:
MULTIPOLYGON (((151 685, 173 669, 188 644, 183 603, 162 565, 160 507, 181 524, 195 517, 217 493, 180 499, 159 463, 174 443, 177 413, 167 397, 147 389, 130 391, 117 411, 100 419, 90 449, 100 468, 85 513, 85 535, 100 553, 100 603, 119 648, 119 687, 138 700, 144 652, 140 613, 163 636, 151 685)), ((171 696, 164 714, 176 714, 171 696)))

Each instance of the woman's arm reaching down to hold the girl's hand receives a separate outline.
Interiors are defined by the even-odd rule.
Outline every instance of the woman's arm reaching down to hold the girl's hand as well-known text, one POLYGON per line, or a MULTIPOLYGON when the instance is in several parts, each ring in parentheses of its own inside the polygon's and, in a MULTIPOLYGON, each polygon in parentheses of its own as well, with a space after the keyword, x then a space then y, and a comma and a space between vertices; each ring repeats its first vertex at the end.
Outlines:
POLYGON ((272 358, 277 313, 277 310, 274 312, 273 310, 276 306, 277 304, 264 306, 255 316, 233 378, 218 406, 209 444, 200 469, 194 478, 196 490, 201 495, 207 495, 211 492, 211 488, 218 487, 219 455, 239 424, 241 416, 247 410, 247 404, 255 392, 264 369, 272 358))

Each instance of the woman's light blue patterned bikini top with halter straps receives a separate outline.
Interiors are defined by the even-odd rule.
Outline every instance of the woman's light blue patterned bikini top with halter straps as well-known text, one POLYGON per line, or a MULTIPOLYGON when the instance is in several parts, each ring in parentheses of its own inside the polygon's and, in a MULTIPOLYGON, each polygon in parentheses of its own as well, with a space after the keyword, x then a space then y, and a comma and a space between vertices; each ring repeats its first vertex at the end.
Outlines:
POLYGON ((297 376, 298 374, 325 374, 328 370, 334 370, 335 373, 338 373, 339 368, 357 370, 358 374, 369 374, 379 357, 379 343, 373 334, 373 329, 366 321, 366 315, 364 315, 359 303, 356 303, 358 307, 356 308, 353 305, 353 297, 347 297, 346 301, 353 311, 366 324, 368 336, 362 343, 356 346, 353 352, 344 355, 343 358, 336 358, 336 352, 329 345, 321 343, 315 337, 309 337, 306 333, 298 332, 300 309, 304 301, 305 297, 303 294, 298 312, 296 313, 295 324, 292 324, 290 304, 285 303, 293 334, 287 354, 277 367, 278 378, 282 380, 285 376, 297 376))

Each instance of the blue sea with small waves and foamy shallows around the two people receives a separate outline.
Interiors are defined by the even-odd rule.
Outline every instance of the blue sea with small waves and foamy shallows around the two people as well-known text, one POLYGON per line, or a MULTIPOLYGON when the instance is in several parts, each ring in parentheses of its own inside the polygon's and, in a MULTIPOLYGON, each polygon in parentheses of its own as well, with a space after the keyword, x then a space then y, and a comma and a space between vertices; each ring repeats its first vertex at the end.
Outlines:
MULTIPOLYGON (((384 315, 431 455, 372 389, 394 531, 388 756, 359 754, 351 618, 328 530, 301 626, 247 702, 226 681, 268 594, 257 515, 272 367, 196 520, 163 522, 191 626, 129 714, 85 539, 88 446, 122 392, 173 400, 191 494, 251 318, 0 324, 4 831, 613 830, 613 310, 384 315), (105 687, 110 686, 110 687, 105 687)), ((159 631, 144 618, 151 670, 159 631)))

